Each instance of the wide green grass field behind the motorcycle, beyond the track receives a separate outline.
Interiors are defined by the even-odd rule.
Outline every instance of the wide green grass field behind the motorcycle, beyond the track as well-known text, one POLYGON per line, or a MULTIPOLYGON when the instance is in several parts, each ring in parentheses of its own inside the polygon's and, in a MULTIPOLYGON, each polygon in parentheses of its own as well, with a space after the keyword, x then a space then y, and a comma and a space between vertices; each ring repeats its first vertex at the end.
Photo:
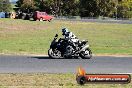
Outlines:
POLYGON ((56 33, 67 27, 79 39, 89 40, 94 54, 132 55, 132 25, 75 21, 39 22, 0 19, 0 53, 47 54, 56 33))

